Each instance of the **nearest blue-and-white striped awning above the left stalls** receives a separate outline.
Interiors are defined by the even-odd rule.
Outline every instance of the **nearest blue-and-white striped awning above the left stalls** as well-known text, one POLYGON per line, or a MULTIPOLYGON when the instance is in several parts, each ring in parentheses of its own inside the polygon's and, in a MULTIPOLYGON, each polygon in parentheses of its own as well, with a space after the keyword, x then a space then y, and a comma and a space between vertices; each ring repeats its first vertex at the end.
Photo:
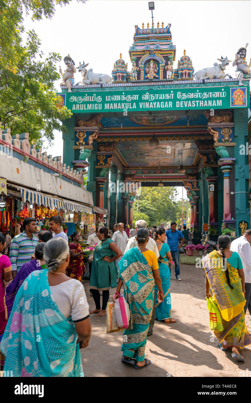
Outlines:
POLYGON ((51 197, 48 195, 44 195, 43 193, 40 192, 34 192, 29 189, 26 189, 25 187, 19 187, 21 191, 21 196, 24 202, 28 200, 31 204, 36 203, 38 206, 43 206, 51 208, 53 210, 55 207, 56 209, 64 210, 64 202, 62 199, 58 199, 57 197, 51 197))

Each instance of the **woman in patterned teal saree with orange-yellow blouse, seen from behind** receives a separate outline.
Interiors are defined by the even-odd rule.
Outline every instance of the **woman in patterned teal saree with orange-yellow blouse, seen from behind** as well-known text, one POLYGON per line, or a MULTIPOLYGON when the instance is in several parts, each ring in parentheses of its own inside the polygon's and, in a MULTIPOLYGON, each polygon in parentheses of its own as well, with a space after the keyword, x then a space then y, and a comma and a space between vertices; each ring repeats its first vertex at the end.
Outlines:
POLYGON ((134 368, 151 364, 145 358, 146 337, 154 304, 154 280, 158 285, 158 301, 164 300, 154 252, 146 249, 149 231, 140 228, 136 234, 138 247, 129 249, 119 262, 119 282, 116 295, 123 285, 125 300, 130 305, 130 322, 123 332, 122 361, 134 363, 134 368))

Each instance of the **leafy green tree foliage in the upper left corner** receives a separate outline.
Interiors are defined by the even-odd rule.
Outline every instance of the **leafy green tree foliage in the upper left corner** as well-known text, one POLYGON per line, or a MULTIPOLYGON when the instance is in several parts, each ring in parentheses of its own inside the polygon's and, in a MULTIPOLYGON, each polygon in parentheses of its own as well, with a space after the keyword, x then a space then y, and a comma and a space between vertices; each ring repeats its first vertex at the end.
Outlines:
MULTIPOLYGON (((78 0, 85 2, 85 0, 78 0)), ((12 133, 29 132, 37 146, 45 136, 49 143, 53 130, 64 130, 60 120, 70 118, 66 107, 57 109, 54 81, 60 78, 56 63, 62 58, 56 52, 43 55, 40 41, 32 30, 22 44, 23 10, 33 20, 51 18, 55 4, 71 0, 0 0, 0 122, 12 133)))

